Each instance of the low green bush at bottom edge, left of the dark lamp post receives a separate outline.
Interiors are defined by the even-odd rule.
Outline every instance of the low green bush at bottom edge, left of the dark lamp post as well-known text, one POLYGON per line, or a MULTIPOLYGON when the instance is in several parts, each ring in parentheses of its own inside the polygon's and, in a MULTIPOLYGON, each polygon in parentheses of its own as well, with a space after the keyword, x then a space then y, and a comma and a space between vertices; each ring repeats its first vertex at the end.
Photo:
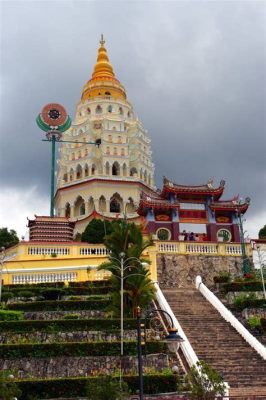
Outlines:
POLYGON ((126 382, 120 388, 119 382, 110 376, 89 382, 87 395, 89 400, 127 400, 130 396, 126 382))

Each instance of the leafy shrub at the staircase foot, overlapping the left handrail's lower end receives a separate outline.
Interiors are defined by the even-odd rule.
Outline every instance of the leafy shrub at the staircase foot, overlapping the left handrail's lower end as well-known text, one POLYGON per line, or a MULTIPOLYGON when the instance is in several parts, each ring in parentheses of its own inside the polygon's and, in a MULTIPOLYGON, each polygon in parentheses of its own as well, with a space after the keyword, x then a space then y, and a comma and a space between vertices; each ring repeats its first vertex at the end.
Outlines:
POLYGON ((193 365, 186 375, 191 399, 212 400, 225 394, 225 383, 221 375, 204 361, 193 365))

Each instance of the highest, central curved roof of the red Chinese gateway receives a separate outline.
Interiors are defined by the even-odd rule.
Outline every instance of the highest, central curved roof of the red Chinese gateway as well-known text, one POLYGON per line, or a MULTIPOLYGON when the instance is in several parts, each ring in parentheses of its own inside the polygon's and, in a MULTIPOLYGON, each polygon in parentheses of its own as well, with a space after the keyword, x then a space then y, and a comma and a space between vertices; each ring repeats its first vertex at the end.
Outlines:
POLYGON ((209 181, 203 185, 179 185, 164 177, 162 197, 167 198, 168 194, 173 193, 181 199, 205 198, 206 196, 212 196, 215 200, 218 200, 223 194, 224 185, 225 181, 221 180, 220 185, 214 187, 213 179, 209 179, 209 181))

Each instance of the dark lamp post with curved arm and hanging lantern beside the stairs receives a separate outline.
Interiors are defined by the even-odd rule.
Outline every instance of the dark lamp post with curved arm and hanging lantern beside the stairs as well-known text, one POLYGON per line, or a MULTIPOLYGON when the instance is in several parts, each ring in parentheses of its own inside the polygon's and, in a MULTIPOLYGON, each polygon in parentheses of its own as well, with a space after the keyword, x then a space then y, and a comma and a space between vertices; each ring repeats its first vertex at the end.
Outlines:
MULTIPOLYGON (((168 350, 171 353, 176 353, 181 342, 184 339, 177 333, 177 329, 174 327, 174 322, 171 315, 161 308, 155 308, 148 310, 144 313, 144 329, 146 331, 146 320, 151 319, 156 313, 163 313, 170 319, 171 327, 168 328, 168 335, 164 338, 164 342, 167 343, 168 350)), ((144 389, 143 389, 143 365, 142 365, 142 349, 141 349, 141 309, 137 307, 137 340, 138 340, 138 373, 139 373, 139 399, 144 400, 144 389)))

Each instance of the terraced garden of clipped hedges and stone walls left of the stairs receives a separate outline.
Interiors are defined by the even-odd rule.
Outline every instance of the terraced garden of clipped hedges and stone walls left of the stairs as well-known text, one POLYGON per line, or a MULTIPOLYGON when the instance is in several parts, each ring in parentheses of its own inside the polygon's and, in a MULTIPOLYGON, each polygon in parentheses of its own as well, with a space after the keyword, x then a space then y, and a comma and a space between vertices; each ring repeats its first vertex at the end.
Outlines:
MULTIPOLYGON (((124 320, 121 358, 120 319, 106 312, 109 293, 105 281, 4 287, 0 370, 14 375, 19 400, 86 397, 92 382, 119 379, 120 370, 131 392, 138 392, 136 320, 124 320)), ((178 392, 180 379, 171 371, 178 360, 153 336, 148 329, 145 394, 178 392)))

